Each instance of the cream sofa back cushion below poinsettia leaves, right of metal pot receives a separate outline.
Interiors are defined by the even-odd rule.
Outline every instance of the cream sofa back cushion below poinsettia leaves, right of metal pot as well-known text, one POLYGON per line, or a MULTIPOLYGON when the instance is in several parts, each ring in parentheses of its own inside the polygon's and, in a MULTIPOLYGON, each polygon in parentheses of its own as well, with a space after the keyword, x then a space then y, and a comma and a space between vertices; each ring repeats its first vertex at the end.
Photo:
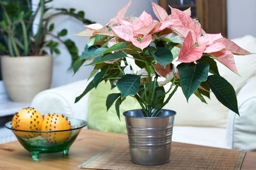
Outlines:
POLYGON ((186 101, 181 88, 173 95, 164 108, 175 110, 175 125, 197 127, 225 127, 227 124, 228 108, 225 108, 211 94, 211 100, 205 97, 208 104, 202 103, 195 95, 186 101))

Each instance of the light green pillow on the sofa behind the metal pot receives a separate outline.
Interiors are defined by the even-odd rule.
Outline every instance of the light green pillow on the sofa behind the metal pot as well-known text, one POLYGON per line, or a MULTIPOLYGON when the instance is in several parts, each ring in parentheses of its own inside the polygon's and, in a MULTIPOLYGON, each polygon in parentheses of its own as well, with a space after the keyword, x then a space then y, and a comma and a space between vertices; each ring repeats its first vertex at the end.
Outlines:
POLYGON ((102 81, 97 89, 92 89, 88 99, 88 128, 105 132, 126 133, 124 111, 139 109, 140 104, 134 97, 127 97, 120 105, 120 119, 116 115, 115 103, 107 112, 106 99, 109 94, 119 92, 117 88, 111 90, 109 81, 102 81))

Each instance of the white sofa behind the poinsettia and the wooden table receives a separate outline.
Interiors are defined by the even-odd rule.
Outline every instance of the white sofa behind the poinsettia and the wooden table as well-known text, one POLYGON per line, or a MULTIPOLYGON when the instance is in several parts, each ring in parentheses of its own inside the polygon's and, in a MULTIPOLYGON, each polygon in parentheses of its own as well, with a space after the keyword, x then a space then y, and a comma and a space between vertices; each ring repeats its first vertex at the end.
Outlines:
MULTIPOLYGON (((256 39, 252 36, 233 39, 250 52, 256 52, 256 39)), ((256 55, 235 56, 240 76, 218 64, 220 73, 237 92, 241 117, 225 106, 211 94, 208 104, 191 97, 186 103, 182 91, 178 90, 166 108, 177 111, 173 141, 192 143, 220 148, 256 150, 256 55), (227 137, 227 138, 226 138, 227 137)), ((40 92, 31 105, 42 111, 66 113, 69 116, 86 120, 88 95, 79 103, 74 99, 83 92, 88 81, 81 80, 63 87, 40 92)))

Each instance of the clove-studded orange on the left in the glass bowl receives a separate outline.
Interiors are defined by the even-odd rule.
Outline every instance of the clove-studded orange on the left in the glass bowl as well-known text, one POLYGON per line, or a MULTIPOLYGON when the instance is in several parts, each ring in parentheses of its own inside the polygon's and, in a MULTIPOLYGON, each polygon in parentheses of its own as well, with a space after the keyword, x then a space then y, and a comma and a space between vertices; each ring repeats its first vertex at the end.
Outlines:
MULTIPOLYGON (((40 131, 43 122, 41 113, 35 108, 24 108, 12 118, 12 128, 22 131, 40 131)), ((40 134, 37 132, 14 131, 21 138, 35 138, 40 134)))

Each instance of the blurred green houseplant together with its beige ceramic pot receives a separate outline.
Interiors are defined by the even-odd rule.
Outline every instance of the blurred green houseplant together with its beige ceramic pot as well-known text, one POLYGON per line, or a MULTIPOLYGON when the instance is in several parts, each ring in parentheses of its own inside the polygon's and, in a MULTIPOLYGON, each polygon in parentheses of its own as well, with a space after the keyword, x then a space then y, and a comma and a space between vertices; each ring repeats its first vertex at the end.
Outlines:
POLYGON ((13 101, 29 102, 40 91, 51 87, 52 54, 60 54, 59 43, 63 43, 72 56, 78 57, 77 47, 71 39, 65 39, 67 29, 54 34, 52 18, 68 15, 84 24, 92 24, 84 18, 83 11, 74 8, 52 8, 47 6, 52 0, 41 0, 35 11, 30 1, 1 1, 3 20, 0 32, 6 53, 1 57, 1 70, 6 91, 13 101), (39 24, 33 29, 35 18, 39 24), (47 38, 47 36, 50 37, 47 38))

